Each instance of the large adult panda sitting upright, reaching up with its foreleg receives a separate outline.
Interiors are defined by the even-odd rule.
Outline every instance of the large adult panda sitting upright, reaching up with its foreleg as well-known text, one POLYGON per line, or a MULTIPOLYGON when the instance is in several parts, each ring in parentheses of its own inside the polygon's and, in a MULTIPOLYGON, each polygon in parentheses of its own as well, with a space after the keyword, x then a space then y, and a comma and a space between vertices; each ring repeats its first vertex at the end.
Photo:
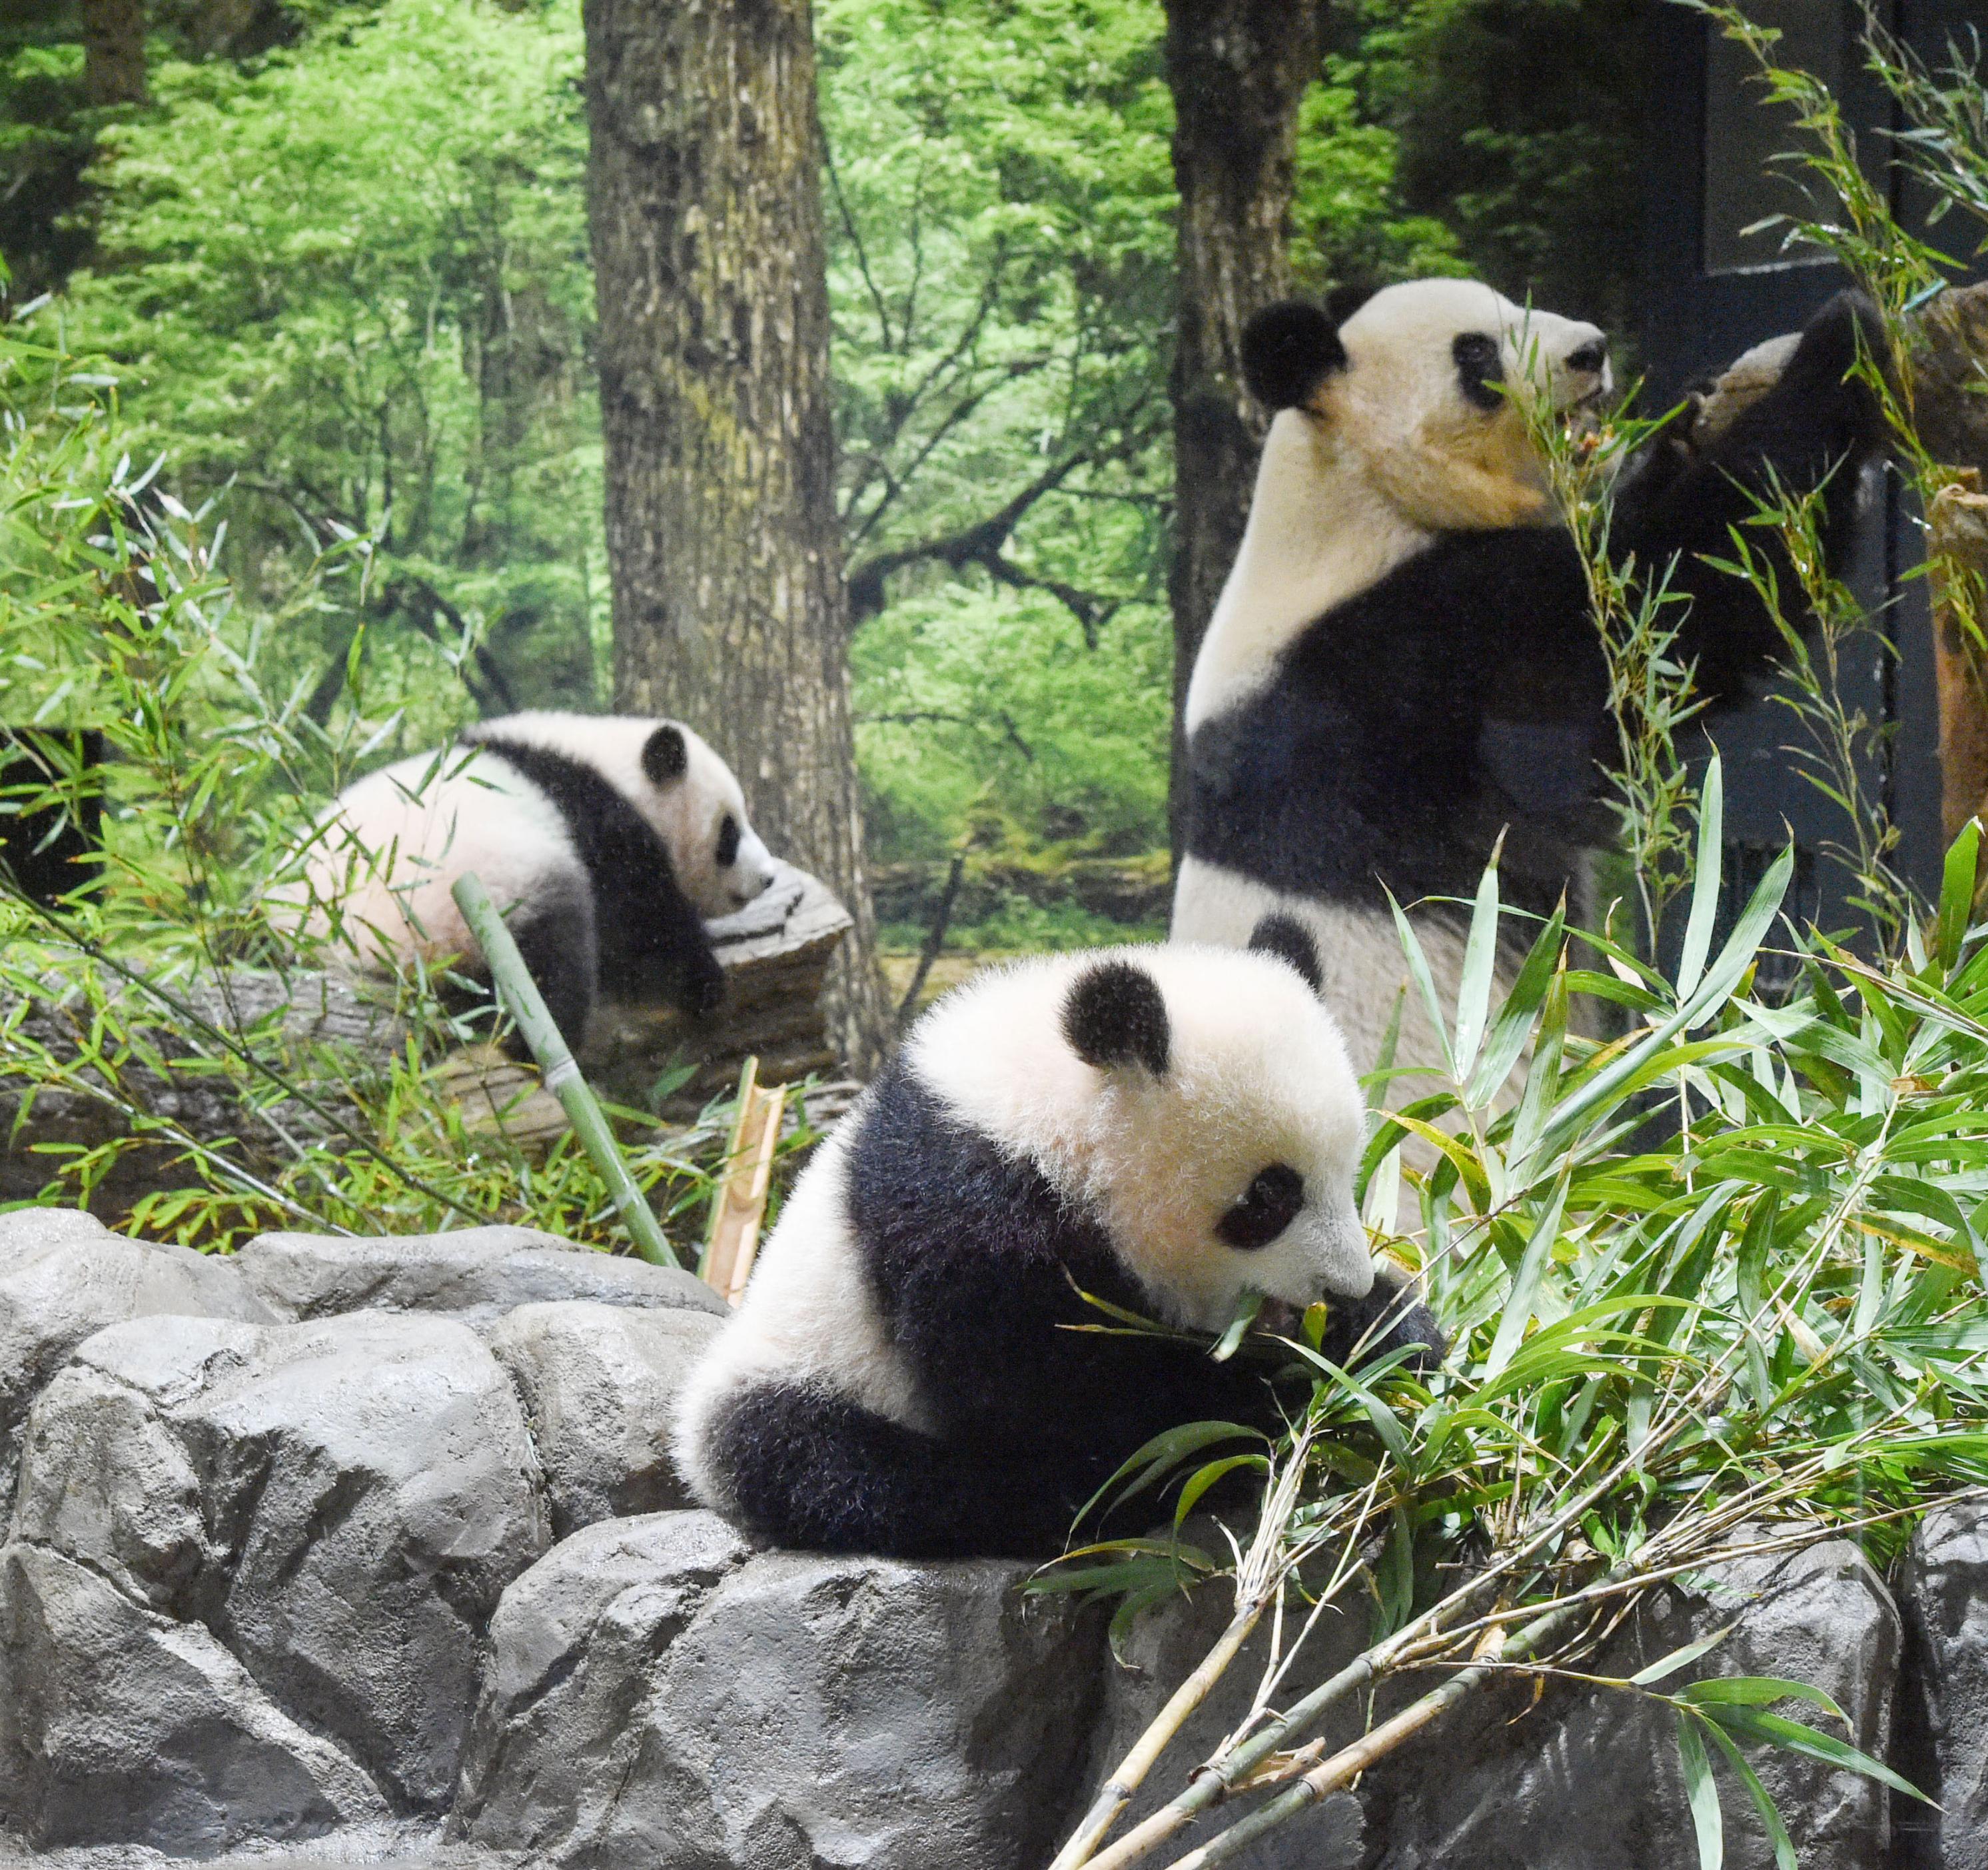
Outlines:
MULTIPOLYGON (((1676 561, 1676 653, 1714 708, 1781 639, 1706 555, 1730 557, 1730 527, 1779 483, 1823 489, 1841 559, 1883 432, 1851 376, 1859 346, 1885 356, 1875 312, 1839 294, 1718 442, 1666 434, 1618 479, 1610 547, 1642 571, 1676 561)), ((1330 312, 1272 306, 1242 362, 1276 416, 1187 690, 1173 935, 1242 945, 1262 915, 1296 917, 1368 1068, 1406 979, 1390 891, 1469 897, 1503 834, 1507 901, 1547 913, 1573 885, 1578 913, 1584 853, 1608 836, 1608 668, 1527 422, 1535 396, 1606 396, 1608 352, 1592 324, 1429 279, 1330 312)), ((1781 589, 1799 591, 1785 567, 1781 589)), ((1425 905, 1415 923, 1449 1003, 1463 919, 1425 905)), ((1413 1003, 1400 1056, 1439 1056, 1413 1003)))

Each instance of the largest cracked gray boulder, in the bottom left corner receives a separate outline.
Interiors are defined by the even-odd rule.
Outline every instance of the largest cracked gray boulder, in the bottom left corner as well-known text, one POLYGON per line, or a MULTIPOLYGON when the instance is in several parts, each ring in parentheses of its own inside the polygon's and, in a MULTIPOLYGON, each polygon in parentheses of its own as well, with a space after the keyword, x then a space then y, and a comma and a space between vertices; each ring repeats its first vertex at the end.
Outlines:
POLYGON ((111 1327, 22 1436, 0 1810, 42 1844, 203 1850, 439 1814, 485 1627, 547 1542, 523 1412, 459 1323, 111 1327))

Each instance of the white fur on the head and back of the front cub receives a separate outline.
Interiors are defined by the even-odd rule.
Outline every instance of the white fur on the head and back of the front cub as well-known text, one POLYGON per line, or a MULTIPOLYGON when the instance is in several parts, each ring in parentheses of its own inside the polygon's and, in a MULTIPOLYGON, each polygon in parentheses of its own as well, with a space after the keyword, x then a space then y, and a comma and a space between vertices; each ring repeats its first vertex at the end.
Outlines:
MULTIPOLYGON (((1127 1269, 1177 1323, 1219 1331, 1244 1287, 1292 1305, 1360 1297, 1374 1261, 1352 1204, 1364 1112, 1338 1027, 1268 955, 1189 947, 1046 955, 978 975, 907 1040, 909 1064, 966 1124, 1097 1214, 1127 1269), (1169 1066, 1097 1070, 1070 1048, 1064 1001, 1125 959, 1167 1001, 1169 1066), (1215 1223, 1284 1162, 1308 1204, 1252 1253, 1215 1223)), ((744 1383, 807 1383, 916 1428, 930 1420, 871 1297, 847 1216, 847 1148, 863 1106, 803 1170, 738 1315, 692 1375, 674 1426, 680 1472, 730 1504, 704 1458, 714 1408, 744 1383)))

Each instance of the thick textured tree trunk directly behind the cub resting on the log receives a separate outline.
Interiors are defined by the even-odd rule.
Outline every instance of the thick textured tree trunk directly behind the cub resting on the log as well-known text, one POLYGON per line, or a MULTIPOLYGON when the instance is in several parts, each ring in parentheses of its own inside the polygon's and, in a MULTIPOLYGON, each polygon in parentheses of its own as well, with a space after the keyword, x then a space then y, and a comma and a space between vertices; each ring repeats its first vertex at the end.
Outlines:
POLYGON ((586 101, 614 696, 706 734, 849 907, 831 1030, 869 1070, 809 0, 586 0, 586 101))

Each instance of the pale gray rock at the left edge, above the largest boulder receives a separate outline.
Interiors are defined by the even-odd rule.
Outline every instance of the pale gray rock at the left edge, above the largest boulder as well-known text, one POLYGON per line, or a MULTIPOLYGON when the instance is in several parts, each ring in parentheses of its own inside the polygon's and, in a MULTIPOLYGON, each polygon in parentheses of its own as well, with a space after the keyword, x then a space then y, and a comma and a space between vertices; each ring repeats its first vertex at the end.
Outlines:
POLYGON ((0 1214, 0 1500, 28 1404, 93 1331, 187 1313, 270 1319, 229 1259, 111 1233, 74 1208, 0 1214))

